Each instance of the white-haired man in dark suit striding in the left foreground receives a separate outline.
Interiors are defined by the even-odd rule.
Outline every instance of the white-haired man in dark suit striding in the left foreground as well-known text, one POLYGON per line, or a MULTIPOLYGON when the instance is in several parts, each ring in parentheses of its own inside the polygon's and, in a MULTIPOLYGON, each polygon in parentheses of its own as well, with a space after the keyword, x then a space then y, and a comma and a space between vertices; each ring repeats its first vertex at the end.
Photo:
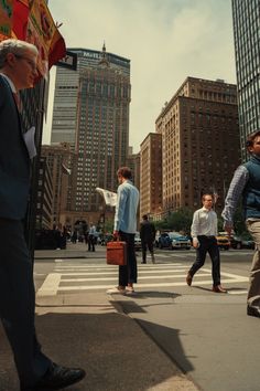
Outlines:
POLYGON ((58 390, 85 371, 54 363, 34 329, 33 263, 24 239, 30 157, 19 114, 20 89, 32 87, 37 49, 24 41, 0 43, 0 318, 11 345, 20 391, 58 390))

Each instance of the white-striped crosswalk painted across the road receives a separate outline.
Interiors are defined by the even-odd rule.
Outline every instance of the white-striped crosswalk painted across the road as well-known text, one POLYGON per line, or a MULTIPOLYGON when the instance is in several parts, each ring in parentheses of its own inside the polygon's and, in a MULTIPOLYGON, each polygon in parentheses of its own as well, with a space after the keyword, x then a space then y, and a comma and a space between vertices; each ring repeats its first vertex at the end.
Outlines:
MULTIPOLYGON (((178 255, 180 256, 180 255, 178 255)), ((176 263, 158 263, 138 266, 138 289, 186 286, 187 266, 176 263)), ((245 276, 221 272, 223 284, 245 283, 245 276)), ((44 279, 37 296, 55 296, 73 292, 105 290, 117 285, 118 267, 111 265, 89 265, 82 262, 57 260, 54 270, 44 279)), ((203 267, 196 274, 196 285, 212 286, 212 270, 203 267)))

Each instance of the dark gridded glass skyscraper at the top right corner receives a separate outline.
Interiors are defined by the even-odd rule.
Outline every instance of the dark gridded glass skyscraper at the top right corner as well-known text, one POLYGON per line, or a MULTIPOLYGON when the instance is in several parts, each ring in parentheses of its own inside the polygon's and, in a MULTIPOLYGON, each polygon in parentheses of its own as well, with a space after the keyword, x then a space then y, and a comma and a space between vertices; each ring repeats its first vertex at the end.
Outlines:
POLYGON ((242 160, 247 136, 260 128, 260 1, 232 0, 242 160))

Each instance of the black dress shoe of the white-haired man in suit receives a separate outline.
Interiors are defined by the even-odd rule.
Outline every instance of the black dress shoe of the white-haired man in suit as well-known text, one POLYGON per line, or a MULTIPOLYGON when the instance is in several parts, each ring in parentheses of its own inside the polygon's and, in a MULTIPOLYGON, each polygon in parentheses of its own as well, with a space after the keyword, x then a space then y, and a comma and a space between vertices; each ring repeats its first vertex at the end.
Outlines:
POLYGON ((40 390, 61 390, 64 387, 77 383, 85 378, 86 372, 80 368, 65 368, 52 363, 52 367, 47 370, 44 377, 37 381, 34 389, 40 390))

